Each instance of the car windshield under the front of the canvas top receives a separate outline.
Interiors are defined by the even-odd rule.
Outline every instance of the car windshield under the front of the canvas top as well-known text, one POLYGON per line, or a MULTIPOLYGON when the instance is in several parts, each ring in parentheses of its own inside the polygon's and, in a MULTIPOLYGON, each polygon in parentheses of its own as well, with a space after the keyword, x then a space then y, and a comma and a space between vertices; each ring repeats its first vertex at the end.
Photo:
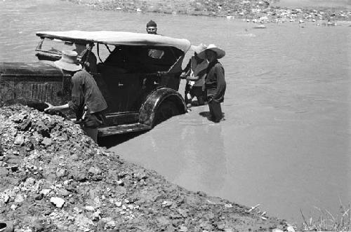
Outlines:
POLYGON ((86 50, 86 44, 74 43, 70 41, 62 41, 60 39, 45 38, 39 43, 37 51, 53 53, 57 55, 62 54, 62 50, 74 50, 79 56, 86 50))

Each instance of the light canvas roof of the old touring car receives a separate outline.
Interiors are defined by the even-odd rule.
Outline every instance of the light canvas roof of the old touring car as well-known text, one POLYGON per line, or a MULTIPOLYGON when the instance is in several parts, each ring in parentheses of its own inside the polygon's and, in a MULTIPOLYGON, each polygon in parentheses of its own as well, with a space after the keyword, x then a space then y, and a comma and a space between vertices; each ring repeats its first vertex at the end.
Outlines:
POLYGON ((135 32, 37 32, 37 36, 62 40, 81 40, 86 42, 104 43, 110 45, 173 46, 182 50, 184 53, 186 53, 190 48, 190 41, 187 39, 176 39, 157 34, 142 34, 135 32))

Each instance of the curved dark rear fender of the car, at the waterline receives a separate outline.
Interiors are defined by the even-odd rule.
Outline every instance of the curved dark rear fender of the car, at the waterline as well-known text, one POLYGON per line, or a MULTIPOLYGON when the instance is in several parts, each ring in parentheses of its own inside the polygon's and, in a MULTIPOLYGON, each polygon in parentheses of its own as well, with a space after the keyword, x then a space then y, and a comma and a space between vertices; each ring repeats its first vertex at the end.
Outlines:
POLYGON ((171 100, 176 103, 182 114, 187 111, 185 100, 180 93, 172 88, 158 88, 147 97, 140 107, 139 123, 153 127, 155 112, 164 100, 171 100))

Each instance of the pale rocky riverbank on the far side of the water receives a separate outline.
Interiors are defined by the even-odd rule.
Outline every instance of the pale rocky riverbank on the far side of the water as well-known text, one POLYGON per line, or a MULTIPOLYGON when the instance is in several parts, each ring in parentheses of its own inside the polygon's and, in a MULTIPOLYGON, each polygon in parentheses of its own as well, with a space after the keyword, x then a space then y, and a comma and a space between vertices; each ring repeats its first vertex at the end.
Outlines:
POLYGON ((226 17, 228 19, 241 18, 255 20, 254 22, 294 22, 309 20, 312 22, 348 21, 351 11, 338 8, 280 8, 274 6, 279 0, 242 1, 242 0, 62 0, 76 4, 91 6, 97 10, 125 11, 138 13, 166 13, 181 15, 204 15, 226 17))

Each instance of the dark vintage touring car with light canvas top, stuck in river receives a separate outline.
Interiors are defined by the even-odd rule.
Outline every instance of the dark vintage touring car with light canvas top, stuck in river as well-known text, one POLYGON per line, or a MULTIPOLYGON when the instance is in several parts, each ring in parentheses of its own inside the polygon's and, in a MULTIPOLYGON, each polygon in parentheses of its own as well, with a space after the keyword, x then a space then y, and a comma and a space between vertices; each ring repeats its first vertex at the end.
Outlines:
MULTIPOLYGON (((71 76, 53 62, 62 50, 76 50, 105 97, 107 121, 98 136, 150 130, 186 112, 178 93, 187 39, 133 32, 37 32, 37 62, 0 63, 0 103, 44 110, 65 104, 71 76), (95 64, 94 64, 95 63, 95 64)), ((69 118, 74 114, 64 112, 69 118)))

